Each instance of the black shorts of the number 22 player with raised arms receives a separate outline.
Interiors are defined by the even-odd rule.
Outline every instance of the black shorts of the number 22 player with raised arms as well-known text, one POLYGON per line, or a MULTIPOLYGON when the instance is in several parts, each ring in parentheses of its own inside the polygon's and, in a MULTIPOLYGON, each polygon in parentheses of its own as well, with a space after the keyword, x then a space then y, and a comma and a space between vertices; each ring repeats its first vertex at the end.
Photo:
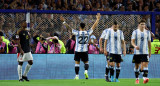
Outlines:
POLYGON ((74 55, 74 60, 75 61, 89 61, 88 59, 88 52, 75 52, 75 55, 74 55))

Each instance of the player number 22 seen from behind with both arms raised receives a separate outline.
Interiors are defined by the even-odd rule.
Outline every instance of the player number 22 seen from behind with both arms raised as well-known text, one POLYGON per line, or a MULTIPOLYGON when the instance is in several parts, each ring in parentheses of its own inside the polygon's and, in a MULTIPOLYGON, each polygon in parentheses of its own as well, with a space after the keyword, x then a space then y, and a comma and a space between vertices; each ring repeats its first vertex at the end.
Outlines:
MULTIPOLYGON (((89 59, 88 59, 88 41, 89 41, 89 36, 92 34, 93 30, 95 29, 95 27, 98 25, 98 22, 100 20, 100 13, 97 13, 96 15, 96 22, 93 24, 93 26, 91 27, 90 30, 85 31, 85 23, 80 23, 80 30, 74 30, 72 29, 72 33, 76 36, 76 49, 75 49, 75 56, 74 56, 74 60, 75 60, 75 79, 78 80, 79 79, 79 64, 80 64, 80 60, 82 60, 84 62, 84 68, 85 68, 85 78, 88 79, 88 68, 89 68, 89 59)), ((62 21, 64 21, 64 18, 61 17, 60 18, 62 21)), ((63 24, 66 27, 70 27, 65 21, 63 22, 63 24)))

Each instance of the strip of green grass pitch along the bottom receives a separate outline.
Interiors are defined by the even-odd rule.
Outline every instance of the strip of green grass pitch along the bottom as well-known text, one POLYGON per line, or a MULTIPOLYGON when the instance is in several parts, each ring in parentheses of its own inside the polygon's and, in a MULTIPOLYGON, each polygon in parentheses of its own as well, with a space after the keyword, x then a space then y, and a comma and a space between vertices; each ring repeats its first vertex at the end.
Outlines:
POLYGON ((147 84, 135 84, 135 79, 119 79, 120 82, 106 82, 104 79, 55 79, 55 80, 31 80, 19 82, 18 80, 0 80, 0 86, 160 86, 159 79, 150 79, 147 84))

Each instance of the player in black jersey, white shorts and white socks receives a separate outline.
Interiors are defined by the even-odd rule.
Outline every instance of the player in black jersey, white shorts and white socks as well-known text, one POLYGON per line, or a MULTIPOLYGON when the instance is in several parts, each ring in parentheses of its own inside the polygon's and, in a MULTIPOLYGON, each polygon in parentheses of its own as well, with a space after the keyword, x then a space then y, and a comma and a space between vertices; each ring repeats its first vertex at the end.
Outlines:
POLYGON ((31 69, 31 66, 33 64, 33 57, 31 54, 31 48, 30 48, 30 35, 29 32, 26 30, 27 23, 26 21, 23 21, 21 23, 21 29, 17 32, 16 35, 16 42, 18 44, 18 54, 17 54, 17 60, 18 60, 18 76, 19 81, 23 82, 23 79, 26 81, 29 81, 27 78, 27 73, 31 69), (22 65, 23 62, 28 61, 28 64, 26 65, 24 74, 22 75, 22 65))

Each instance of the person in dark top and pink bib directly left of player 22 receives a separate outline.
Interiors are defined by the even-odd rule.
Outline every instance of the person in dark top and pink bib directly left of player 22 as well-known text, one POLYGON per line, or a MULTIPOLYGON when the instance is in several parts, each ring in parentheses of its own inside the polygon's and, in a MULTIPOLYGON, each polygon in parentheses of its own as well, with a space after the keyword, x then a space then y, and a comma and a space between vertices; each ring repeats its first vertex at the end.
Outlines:
POLYGON ((71 38, 67 41, 66 44, 67 54, 74 54, 75 44, 76 44, 75 40, 76 40, 75 35, 72 35, 71 38))

